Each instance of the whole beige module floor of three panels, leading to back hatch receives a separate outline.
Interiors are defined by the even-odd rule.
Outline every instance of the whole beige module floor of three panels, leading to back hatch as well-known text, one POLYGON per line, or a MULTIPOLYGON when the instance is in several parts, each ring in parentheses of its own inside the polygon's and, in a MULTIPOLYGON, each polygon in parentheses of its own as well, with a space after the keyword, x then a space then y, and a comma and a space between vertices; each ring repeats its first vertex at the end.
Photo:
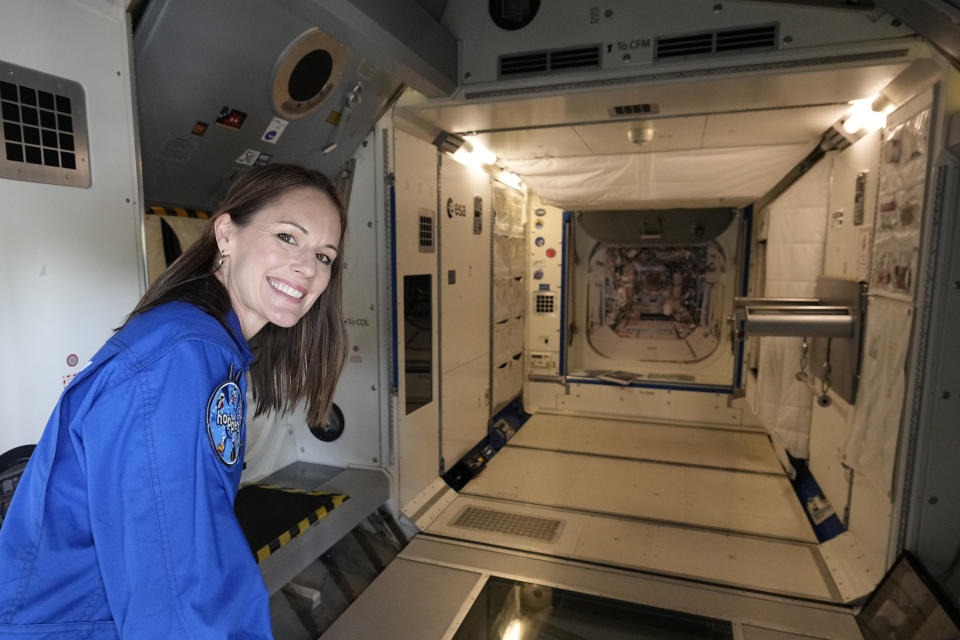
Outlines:
POLYGON ((428 533, 837 602, 759 432, 538 414, 428 533), (455 524, 468 507, 558 520, 536 540, 455 524))

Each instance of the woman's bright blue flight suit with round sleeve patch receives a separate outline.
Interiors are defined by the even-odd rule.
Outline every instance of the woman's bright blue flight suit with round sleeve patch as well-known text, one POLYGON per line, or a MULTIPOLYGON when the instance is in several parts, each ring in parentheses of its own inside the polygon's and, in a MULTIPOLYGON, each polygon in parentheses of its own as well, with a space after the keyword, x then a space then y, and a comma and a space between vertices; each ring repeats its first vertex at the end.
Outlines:
POLYGON ((272 637, 233 513, 253 356, 228 324, 147 311, 61 395, 0 528, 0 638, 272 637))

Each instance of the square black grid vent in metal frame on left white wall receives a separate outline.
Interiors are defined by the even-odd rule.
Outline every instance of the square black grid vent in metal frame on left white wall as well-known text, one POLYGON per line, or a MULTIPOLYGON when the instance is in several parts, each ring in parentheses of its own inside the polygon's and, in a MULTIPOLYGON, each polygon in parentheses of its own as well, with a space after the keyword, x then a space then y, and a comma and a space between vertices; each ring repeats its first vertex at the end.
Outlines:
POLYGON ((79 83, 0 61, 0 177, 90 186, 79 83))

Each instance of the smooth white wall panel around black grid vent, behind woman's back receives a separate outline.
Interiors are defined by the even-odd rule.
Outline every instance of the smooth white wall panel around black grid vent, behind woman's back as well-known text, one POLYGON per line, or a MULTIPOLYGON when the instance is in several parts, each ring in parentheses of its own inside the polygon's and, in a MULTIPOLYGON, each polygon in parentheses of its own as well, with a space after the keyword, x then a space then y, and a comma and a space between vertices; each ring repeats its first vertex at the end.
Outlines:
POLYGON ((145 282, 122 4, 20 0, 2 14, 0 60, 82 85, 92 184, 0 179, 0 453, 39 439, 65 381, 145 282))

